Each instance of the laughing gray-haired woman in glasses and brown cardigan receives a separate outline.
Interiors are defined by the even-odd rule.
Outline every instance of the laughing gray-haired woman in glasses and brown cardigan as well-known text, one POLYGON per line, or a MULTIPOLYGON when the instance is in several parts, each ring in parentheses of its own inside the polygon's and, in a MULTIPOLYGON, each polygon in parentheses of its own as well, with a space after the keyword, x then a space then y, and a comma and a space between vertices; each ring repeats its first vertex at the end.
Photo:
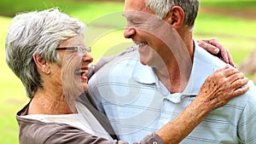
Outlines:
MULTIPOLYGON (((84 94, 93 60, 84 44, 85 26, 58 9, 18 14, 6 38, 6 61, 31 101, 17 112, 20 143, 126 143, 118 141, 84 94)), ((247 91, 247 79, 226 66, 209 77, 188 108, 141 143, 177 143, 213 108, 247 91), (205 107, 206 105, 211 107, 205 107), (195 110, 196 109, 196 110, 195 110), (177 127, 177 125, 179 125, 177 127)))

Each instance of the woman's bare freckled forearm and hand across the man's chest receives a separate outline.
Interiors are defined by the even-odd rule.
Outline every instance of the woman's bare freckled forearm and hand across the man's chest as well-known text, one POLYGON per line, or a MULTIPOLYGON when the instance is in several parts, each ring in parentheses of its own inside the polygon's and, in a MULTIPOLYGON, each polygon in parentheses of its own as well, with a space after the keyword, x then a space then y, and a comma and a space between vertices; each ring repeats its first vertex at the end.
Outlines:
POLYGON ((231 66, 214 72, 202 85, 199 95, 177 118, 166 124, 156 134, 164 143, 179 143, 216 107, 247 92, 247 78, 231 66))

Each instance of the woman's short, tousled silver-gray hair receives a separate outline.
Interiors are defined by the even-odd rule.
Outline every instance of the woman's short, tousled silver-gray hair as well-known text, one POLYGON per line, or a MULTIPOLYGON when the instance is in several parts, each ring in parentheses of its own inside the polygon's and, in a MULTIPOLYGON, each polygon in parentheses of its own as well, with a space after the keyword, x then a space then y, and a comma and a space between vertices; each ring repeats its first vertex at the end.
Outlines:
POLYGON ((43 87, 33 55, 41 55, 44 60, 60 66, 60 56, 55 48, 70 37, 84 36, 85 27, 83 22, 70 18, 58 9, 15 16, 6 37, 6 62, 20 78, 28 97, 32 98, 35 91, 43 87))

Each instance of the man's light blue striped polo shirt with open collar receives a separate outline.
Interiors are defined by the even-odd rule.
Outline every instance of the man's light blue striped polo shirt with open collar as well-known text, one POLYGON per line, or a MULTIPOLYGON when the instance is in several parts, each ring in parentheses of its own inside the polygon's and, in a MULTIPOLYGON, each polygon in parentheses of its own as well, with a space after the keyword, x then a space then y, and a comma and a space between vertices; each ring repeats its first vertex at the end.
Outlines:
MULTIPOLYGON (((195 99, 206 78, 222 60, 195 43, 189 83, 183 93, 171 94, 136 52, 122 55, 90 78, 89 93, 96 107, 107 114, 120 140, 140 141, 176 118, 195 99)), ((213 110, 181 143, 256 143, 256 89, 213 110)))

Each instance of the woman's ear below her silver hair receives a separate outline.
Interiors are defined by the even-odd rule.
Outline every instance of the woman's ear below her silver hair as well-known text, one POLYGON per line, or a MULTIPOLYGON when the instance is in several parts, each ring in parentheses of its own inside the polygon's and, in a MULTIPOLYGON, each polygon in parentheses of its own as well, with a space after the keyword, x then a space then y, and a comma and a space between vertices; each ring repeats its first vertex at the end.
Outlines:
POLYGON ((38 70, 44 72, 45 74, 50 73, 49 64, 41 55, 33 55, 33 59, 38 67, 38 70))

